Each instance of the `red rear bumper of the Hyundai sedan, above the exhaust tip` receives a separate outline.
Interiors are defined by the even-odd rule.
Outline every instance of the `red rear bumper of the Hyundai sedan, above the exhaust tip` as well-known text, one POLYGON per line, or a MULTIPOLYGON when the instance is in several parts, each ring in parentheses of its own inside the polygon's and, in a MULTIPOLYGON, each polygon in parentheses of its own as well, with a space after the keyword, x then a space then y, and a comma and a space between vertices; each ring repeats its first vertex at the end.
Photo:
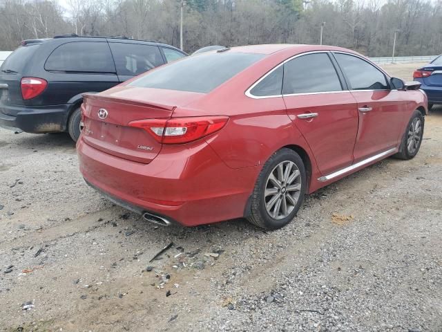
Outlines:
POLYGON ((137 213, 152 212, 184 226, 244 216, 260 167, 231 169, 204 141, 164 146, 148 164, 117 158, 77 142, 87 183, 137 213))

